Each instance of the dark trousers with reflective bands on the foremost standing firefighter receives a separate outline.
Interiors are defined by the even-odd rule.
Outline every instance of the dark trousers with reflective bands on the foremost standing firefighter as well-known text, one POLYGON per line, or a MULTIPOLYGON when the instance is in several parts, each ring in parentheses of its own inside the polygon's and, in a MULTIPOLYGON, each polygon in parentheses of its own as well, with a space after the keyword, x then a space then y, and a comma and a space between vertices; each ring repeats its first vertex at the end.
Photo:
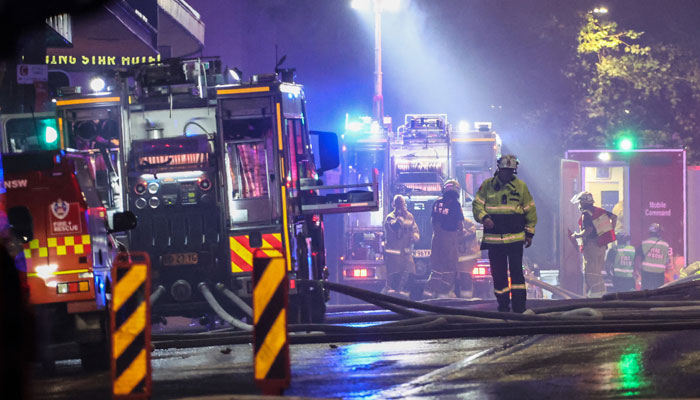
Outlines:
POLYGON ((493 291, 498 300, 498 311, 509 311, 512 297, 513 311, 524 312, 527 287, 523 275, 523 242, 491 245, 489 262, 493 277, 493 291), (508 285, 509 271, 510 286, 508 285))

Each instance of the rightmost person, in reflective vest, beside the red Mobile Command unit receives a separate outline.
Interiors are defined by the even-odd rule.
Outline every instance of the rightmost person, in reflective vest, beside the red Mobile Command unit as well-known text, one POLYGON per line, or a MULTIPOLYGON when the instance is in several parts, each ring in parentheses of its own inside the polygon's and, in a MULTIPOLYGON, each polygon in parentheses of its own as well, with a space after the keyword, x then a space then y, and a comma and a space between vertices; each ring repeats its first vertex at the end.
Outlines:
POLYGON ((641 264, 642 289, 656 289, 664 284, 664 273, 670 265, 669 244, 661 239, 663 228, 654 222, 649 226, 649 237, 637 246, 636 259, 641 264))

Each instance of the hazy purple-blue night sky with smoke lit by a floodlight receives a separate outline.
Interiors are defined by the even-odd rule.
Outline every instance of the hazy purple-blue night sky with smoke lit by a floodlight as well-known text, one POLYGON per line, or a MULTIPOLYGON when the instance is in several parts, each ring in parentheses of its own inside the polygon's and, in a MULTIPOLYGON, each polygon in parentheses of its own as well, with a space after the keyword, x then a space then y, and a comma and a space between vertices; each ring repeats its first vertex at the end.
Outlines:
MULTIPOLYGON (((349 0, 188 2, 206 24, 203 54, 220 56, 244 79, 272 72, 276 52, 287 56, 283 67, 296 68, 305 85, 312 129, 340 133, 345 113, 372 113, 372 13, 352 9, 349 0)), ((520 177, 538 208, 556 207, 563 152, 552 140, 560 125, 533 131, 527 119, 570 99, 572 82, 562 71, 576 46, 577 14, 599 5, 621 29, 697 50, 697 0, 410 0, 383 16, 385 114, 394 127, 406 113, 446 113, 455 125, 493 122, 506 151, 520 158, 520 177)), ((533 248, 547 261, 556 221, 540 214, 544 235, 533 248)))

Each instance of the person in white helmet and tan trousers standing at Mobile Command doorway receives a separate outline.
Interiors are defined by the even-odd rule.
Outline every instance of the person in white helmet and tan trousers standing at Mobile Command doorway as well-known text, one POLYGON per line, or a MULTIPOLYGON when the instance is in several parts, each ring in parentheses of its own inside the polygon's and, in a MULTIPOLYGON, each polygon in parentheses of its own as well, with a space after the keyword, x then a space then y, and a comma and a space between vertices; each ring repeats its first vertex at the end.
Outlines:
POLYGON ((610 211, 596 207, 593 204, 593 195, 590 192, 581 192, 575 195, 571 202, 578 203, 581 217, 578 220, 579 230, 571 237, 581 240, 583 252, 583 274, 585 292, 588 297, 600 297, 605 294, 605 282, 603 281, 603 264, 605 263, 605 251, 608 244, 615 241, 613 227, 617 223, 617 216, 610 211))

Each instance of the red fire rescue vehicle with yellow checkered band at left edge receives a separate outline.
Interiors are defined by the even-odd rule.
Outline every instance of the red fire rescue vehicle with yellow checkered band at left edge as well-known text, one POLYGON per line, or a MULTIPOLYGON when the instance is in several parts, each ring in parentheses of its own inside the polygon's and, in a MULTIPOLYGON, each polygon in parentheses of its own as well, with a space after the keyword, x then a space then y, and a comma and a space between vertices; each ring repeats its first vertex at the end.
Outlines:
MULTIPOLYGON (((111 234, 132 229, 136 219, 117 213, 110 228, 87 156, 59 150, 2 159, 9 222, 27 227, 17 239, 40 342, 77 342, 83 368, 105 368, 110 270, 118 249, 111 234)), ((45 365, 53 363, 48 348, 41 351, 45 365)))

